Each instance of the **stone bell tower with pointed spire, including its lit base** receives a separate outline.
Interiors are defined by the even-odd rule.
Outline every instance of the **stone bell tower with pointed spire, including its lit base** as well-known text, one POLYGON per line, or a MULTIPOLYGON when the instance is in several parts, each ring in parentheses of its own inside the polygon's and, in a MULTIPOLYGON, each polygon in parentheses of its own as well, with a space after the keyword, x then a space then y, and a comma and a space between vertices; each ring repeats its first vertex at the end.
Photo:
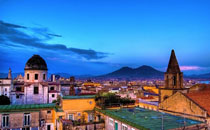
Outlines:
POLYGON ((187 92, 187 89, 183 87, 183 73, 179 68, 174 50, 171 51, 168 68, 164 74, 164 81, 164 87, 159 88, 159 102, 163 102, 177 91, 187 92))

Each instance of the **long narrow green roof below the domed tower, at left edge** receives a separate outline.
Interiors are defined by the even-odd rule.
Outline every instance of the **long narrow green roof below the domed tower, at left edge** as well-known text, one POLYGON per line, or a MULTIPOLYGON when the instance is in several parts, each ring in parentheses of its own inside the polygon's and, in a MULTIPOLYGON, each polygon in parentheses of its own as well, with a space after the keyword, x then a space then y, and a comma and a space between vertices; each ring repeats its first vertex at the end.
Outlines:
POLYGON ((24 111, 24 110, 39 110, 55 108, 56 104, 25 104, 25 105, 0 105, 0 112, 13 112, 13 111, 24 111))

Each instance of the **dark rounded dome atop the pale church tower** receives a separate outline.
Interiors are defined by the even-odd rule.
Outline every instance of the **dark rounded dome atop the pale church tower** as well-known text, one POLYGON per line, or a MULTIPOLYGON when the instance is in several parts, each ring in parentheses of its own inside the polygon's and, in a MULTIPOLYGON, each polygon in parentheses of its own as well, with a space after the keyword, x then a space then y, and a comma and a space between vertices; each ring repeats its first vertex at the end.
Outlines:
POLYGON ((47 64, 41 56, 33 55, 27 61, 25 70, 47 70, 47 64))

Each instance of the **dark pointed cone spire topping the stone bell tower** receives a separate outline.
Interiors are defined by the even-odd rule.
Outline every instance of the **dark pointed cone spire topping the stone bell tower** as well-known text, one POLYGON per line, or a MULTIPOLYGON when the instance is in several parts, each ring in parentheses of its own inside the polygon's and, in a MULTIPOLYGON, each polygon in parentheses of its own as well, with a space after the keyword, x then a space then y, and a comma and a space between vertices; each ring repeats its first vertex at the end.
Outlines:
POLYGON ((180 73, 178 61, 176 59, 175 51, 171 51, 171 57, 168 63, 167 73, 180 73))

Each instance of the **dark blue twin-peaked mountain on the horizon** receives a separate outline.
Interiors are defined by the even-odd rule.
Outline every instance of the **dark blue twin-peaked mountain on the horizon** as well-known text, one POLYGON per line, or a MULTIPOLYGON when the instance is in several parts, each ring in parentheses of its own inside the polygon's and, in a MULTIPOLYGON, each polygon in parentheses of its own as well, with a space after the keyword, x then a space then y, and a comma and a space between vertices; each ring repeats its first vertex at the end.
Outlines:
POLYGON ((101 78, 127 78, 127 79, 163 79, 164 73, 150 66, 138 68, 122 67, 114 72, 101 75, 101 78))

